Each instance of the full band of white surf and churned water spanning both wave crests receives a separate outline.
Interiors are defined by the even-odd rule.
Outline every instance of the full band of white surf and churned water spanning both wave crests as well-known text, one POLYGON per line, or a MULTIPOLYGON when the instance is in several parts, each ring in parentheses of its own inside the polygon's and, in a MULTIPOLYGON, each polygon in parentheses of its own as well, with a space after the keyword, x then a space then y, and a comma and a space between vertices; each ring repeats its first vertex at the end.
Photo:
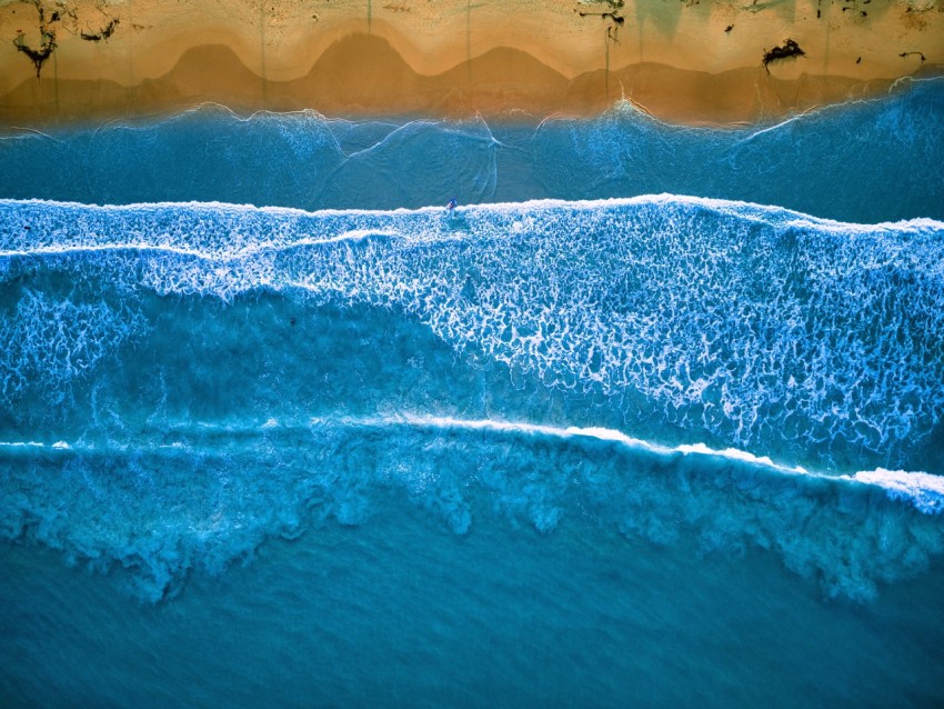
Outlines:
POLYGON ((8 200, 0 281, 0 529, 141 598, 391 499, 855 600, 944 550, 938 221, 8 200))

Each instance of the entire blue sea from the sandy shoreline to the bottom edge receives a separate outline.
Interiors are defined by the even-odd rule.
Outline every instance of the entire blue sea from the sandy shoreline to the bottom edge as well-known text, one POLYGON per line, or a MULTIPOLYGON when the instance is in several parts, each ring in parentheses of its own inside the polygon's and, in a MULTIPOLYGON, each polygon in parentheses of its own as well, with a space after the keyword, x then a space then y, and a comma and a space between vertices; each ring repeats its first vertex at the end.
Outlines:
POLYGON ((8 130, 0 703, 941 706, 942 124, 8 130))

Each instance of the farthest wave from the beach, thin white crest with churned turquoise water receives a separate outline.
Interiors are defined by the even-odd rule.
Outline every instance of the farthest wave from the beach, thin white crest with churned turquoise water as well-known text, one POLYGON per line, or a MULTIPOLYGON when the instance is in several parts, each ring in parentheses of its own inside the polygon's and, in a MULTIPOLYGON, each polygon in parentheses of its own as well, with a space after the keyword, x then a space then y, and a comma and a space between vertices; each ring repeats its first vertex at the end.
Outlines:
POLYGON ((403 501, 455 535, 591 523, 633 542, 694 540, 703 553, 759 548, 826 596, 856 601, 944 552, 935 476, 811 473, 605 428, 436 416, 164 421, 123 443, 11 441, 0 469, 0 533, 120 566, 152 601, 178 592, 191 569, 223 572, 270 537, 370 525, 403 501))

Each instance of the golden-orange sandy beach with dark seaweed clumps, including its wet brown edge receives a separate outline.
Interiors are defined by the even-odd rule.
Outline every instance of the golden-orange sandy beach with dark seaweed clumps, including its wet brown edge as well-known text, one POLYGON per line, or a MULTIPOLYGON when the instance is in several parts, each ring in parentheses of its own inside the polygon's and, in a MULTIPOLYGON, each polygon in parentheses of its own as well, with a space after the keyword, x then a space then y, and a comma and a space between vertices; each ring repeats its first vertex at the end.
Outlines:
POLYGON ((739 123, 942 67, 942 0, 0 0, 3 126, 208 101, 543 117, 621 97, 739 123), (787 39, 804 56, 763 66, 787 39))

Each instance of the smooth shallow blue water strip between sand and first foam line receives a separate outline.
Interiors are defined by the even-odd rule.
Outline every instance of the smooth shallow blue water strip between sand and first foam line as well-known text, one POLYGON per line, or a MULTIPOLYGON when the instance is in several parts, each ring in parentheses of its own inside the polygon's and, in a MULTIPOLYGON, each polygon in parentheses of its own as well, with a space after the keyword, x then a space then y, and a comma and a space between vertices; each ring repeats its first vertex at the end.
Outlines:
POLYGON ((779 123, 667 126, 617 103, 591 120, 349 121, 240 117, 0 133, 0 196, 128 204, 221 201, 416 209, 533 199, 692 194, 874 223, 944 219, 942 79, 779 123))

